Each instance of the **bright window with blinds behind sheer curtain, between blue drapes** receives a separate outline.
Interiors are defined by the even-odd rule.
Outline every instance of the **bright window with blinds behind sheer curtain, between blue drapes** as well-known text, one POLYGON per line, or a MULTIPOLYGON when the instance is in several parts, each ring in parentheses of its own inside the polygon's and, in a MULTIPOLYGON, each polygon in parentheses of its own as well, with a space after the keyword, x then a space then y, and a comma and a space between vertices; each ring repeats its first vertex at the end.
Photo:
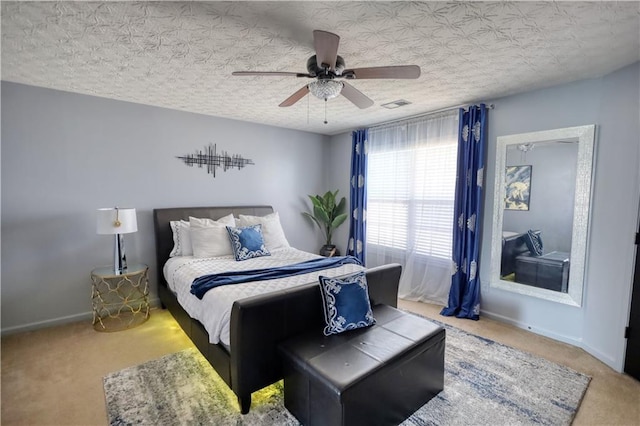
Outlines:
POLYGON ((457 164, 457 114, 401 131, 371 132, 367 244, 449 261, 457 164))

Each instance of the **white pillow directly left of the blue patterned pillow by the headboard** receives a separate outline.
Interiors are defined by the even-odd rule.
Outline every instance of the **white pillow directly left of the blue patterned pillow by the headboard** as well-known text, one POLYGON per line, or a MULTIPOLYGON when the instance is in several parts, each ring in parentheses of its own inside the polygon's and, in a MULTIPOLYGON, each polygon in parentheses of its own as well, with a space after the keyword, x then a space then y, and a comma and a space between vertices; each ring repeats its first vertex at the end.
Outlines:
POLYGON ((217 257, 233 254, 227 226, 236 226, 232 214, 216 221, 189 217, 191 246, 195 257, 217 257))

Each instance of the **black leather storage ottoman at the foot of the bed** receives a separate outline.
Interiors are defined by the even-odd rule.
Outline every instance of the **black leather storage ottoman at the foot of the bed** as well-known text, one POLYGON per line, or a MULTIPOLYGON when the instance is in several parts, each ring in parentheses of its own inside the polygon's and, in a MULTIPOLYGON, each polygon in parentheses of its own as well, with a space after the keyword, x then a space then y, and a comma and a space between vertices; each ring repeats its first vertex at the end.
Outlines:
POLYGON ((284 405, 307 426, 395 425, 444 387, 445 330, 386 305, 376 324, 280 344, 284 405))

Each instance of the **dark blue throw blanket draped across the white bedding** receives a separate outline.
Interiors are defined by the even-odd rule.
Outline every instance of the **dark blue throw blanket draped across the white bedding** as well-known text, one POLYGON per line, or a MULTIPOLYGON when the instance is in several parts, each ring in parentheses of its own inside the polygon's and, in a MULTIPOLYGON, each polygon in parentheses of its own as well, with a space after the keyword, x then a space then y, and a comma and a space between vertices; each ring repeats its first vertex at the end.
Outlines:
POLYGON ((277 268, 230 271, 220 274, 203 275, 193 280, 191 293, 195 294, 198 299, 202 299, 207 291, 215 287, 220 287, 221 285, 286 278, 347 264, 361 265, 360 261, 353 256, 336 256, 311 259, 305 262, 294 263, 293 265, 279 266, 277 268))

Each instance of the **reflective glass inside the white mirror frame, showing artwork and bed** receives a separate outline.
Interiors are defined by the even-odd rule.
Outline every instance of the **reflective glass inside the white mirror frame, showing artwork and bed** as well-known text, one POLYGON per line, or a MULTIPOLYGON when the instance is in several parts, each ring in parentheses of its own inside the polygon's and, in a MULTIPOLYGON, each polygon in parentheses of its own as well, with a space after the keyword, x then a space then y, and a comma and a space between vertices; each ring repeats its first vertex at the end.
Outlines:
POLYGON ((568 292, 578 139, 508 145, 500 278, 568 292))

